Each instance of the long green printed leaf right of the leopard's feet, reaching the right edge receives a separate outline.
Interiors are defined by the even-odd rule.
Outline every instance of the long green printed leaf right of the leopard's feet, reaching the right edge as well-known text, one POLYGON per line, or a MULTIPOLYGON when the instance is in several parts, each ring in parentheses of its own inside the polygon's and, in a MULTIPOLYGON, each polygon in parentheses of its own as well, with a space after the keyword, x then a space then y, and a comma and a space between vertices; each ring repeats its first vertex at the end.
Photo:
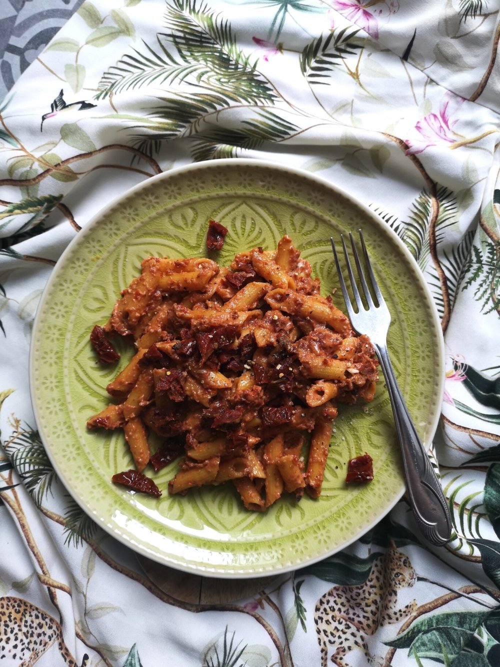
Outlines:
POLYGON ((435 628, 451 628, 459 632, 474 633, 485 620, 500 618, 500 611, 493 612, 444 612, 443 614, 432 614, 417 619, 411 626, 389 642, 383 642, 386 646, 393 648, 410 648, 413 642, 422 632, 428 632, 435 628))

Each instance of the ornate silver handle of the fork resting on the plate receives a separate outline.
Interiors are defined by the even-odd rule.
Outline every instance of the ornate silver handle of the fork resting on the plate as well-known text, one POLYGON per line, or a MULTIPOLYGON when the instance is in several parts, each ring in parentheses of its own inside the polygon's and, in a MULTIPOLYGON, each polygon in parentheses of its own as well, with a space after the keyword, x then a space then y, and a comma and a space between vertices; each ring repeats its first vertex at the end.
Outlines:
POLYGON ((443 488, 411 420, 386 346, 374 344, 391 399, 394 421, 401 444, 403 469, 409 501, 417 526, 425 539, 443 546, 451 537, 451 517, 443 488))

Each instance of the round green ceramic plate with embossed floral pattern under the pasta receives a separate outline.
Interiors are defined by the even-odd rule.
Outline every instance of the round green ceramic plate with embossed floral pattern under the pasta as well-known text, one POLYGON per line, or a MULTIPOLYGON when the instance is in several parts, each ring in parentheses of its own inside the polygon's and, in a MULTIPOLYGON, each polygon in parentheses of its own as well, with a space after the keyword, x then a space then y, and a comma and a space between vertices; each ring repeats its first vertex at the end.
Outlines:
MULTIPOLYGON (((287 233, 325 294, 336 284, 329 237, 363 229, 393 315, 395 372, 426 446, 439 416, 443 340, 425 282, 399 238, 369 209, 306 172, 257 160, 175 169, 131 189, 70 243, 43 293, 31 348, 35 416, 57 474, 98 524, 153 560, 197 574, 263 576, 347 546, 401 497, 399 447, 383 380, 373 403, 341 408, 321 498, 299 504, 285 498, 265 514, 247 512, 229 485, 169 496, 176 464, 151 474, 163 489, 159 499, 115 486, 111 476, 132 464, 122 432, 85 428, 107 405, 105 386, 117 372, 96 362, 91 328, 106 321, 145 257, 204 256, 210 218, 229 228, 220 263, 258 245, 275 248, 287 233), (347 460, 365 451, 373 457, 375 480, 346 486, 347 460)), ((120 368, 130 356, 125 352, 120 368)))

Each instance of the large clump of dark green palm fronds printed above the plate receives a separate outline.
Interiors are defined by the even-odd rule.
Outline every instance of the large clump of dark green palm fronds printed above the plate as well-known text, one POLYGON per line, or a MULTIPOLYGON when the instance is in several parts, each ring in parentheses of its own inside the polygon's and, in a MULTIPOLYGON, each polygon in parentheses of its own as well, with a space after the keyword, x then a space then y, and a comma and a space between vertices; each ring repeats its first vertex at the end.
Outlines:
POLYGON ((157 104, 147 115, 129 117, 135 147, 151 155, 163 141, 197 135, 195 160, 234 156, 238 148, 282 141, 298 129, 268 108, 277 95, 257 62, 237 47, 231 25, 219 13, 197 0, 172 0, 165 32, 110 67, 95 97, 153 86, 157 104), (233 106, 255 109, 255 115, 224 133, 205 127, 207 117, 233 106))

